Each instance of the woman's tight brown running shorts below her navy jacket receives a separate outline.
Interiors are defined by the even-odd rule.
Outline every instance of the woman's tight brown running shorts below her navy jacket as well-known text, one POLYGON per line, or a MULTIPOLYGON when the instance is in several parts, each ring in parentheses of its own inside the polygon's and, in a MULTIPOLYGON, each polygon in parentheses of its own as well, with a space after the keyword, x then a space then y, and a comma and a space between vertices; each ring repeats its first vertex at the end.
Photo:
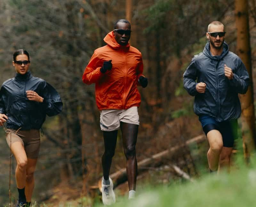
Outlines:
POLYGON ((11 139, 12 143, 20 142, 24 146, 28 158, 38 158, 40 149, 40 132, 38 129, 19 130, 17 133, 14 129, 5 128, 4 130, 5 138, 9 147, 11 146, 11 139))

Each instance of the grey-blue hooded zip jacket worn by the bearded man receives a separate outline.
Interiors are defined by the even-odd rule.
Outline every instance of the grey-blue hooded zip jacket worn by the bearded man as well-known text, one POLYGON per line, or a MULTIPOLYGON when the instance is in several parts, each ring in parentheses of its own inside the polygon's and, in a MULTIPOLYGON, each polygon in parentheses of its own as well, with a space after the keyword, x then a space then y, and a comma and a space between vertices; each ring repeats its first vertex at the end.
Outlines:
POLYGON ((236 119, 241 114, 238 93, 246 93, 249 75, 242 60, 228 51, 224 42, 220 56, 212 56, 210 42, 204 51, 195 55, 183 75, 184 88, 195 96, 194 111, 196 115, 210 115, 216 121, 236 119), (229 80, 224 73, 224 64, 232 69, 234 77, 229 80), (205 93, 196 91, 197 83, 206 84, 205 93))

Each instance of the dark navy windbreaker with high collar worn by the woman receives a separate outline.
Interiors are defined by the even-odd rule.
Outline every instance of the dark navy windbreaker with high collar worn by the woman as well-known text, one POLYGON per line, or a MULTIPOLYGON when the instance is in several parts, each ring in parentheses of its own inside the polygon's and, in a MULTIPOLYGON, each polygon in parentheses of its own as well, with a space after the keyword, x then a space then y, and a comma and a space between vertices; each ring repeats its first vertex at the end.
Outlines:
POLYGON ((0 114, 8 116, 6 127, 11 129, 40 129, 48 116, 57 115, 62 110, 59 93, 41 78, 26 74, 16 74, 6 80, 0 89, 0 114), (30 101, 26 91, 35 91, 44 98, 43 103, 30 101))

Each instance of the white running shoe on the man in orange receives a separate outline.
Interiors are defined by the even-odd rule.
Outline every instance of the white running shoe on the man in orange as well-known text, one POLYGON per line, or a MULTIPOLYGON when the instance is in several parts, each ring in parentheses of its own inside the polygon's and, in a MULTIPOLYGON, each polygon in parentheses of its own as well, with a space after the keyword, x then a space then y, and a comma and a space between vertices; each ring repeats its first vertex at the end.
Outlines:
POLYGON ((103 178, 101 181, 101 187, 102 187, 102 202, 104 205, 111 205, 113 203, 116 203, 116 196, 113 190, 113 181, 111 178, 109 178, 110 184, 104 185, 103 184, 103 178))

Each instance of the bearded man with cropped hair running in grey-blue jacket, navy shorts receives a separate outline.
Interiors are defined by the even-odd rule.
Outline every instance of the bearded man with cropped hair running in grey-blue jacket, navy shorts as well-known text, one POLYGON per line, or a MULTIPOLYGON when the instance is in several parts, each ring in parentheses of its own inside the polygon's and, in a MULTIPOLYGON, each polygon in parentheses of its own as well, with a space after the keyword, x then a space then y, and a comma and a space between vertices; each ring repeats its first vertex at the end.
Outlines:
POLYGON ((228 51, 221 22, 210 23, 206 37, 209 42, 191 60, 183 82, 188 93, 195 96, 194 111, 210 144, 209 168, 216 171, 218 166, 230 165, 241 114, 238 93, 246 93, 249 75, 241 59, 228 51))

